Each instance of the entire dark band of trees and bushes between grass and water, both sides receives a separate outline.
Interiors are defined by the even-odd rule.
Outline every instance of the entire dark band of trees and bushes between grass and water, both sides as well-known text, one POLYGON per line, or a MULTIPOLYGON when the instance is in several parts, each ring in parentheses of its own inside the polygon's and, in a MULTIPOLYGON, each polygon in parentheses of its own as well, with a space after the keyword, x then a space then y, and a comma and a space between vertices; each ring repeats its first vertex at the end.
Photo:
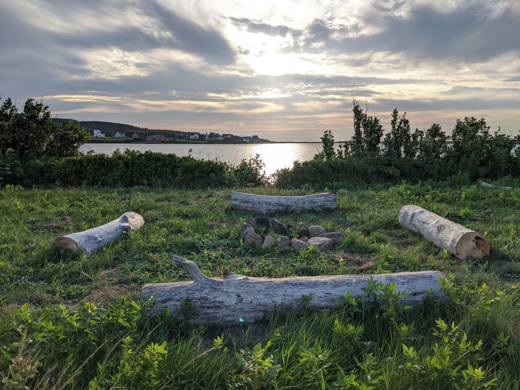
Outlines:
POLYGON ((0 97, 0 186, 153 186, 233 187, 269 182, 275 186, 340 188, 345 183, 396 183, 408 180, 457 180, 520 177, 520 153, 511 153, 520 136, 490 132, 484 119, 457 120, 452 134, 437 123, 412 133, 406 112, 392 112, 384 135, 376 115, 368 115, 353 98, 354 134, 339 150, 332 132, 321 137, 323 149, 313 160, 294 162, 269 179, 258 157, 238 166, 125 150, 112 156, 83 155, 79 147, 88 133, 76 121, 60 124, 48 106, 34 99, 19 112, 12 100, 0 97))

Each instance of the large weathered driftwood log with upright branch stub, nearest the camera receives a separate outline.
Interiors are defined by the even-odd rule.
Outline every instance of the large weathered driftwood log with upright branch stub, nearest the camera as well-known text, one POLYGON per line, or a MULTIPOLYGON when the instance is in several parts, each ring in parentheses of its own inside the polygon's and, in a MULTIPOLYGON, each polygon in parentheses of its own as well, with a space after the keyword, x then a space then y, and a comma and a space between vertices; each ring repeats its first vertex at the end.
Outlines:
POLYGON ((181 307, 180 301, 189 297, 196 308, 193 322, 209 325, 250 323, 277 308, 297 309, 302 305, 302 295, 311 296, 310 306, 335 308, 347 291, 354 297, 366 298, 367 292, 361 289, 371 277, 378 282, 395 283, 397 290, 408 293, 402 298, 406 304, 421 303, 428 288, 436 295, 441 290, 439 271, 271 279, 224 270, 222 277, 211 279, 202 274, 196 263, 175 255, 173 260, 188 270, 193 281, 145 284, 141 298, 153 296, 154 311, 168 308, 173 314, 181 307))

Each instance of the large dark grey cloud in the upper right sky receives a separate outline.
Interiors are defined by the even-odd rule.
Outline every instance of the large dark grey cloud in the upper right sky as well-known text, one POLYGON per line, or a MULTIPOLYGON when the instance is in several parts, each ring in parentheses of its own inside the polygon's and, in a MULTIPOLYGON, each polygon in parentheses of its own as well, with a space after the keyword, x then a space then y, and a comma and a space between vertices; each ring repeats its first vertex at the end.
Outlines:
MULTIPOLYGON (((379 8, 386 10, 381 4, 379 8)), ((348 54, 386 51, 404 53, 419 61, 486 61, 510 50, 520 51, 519 18, 520 10, 514 3, 498 15, 478 2, 462 6, 456 12, 419 5, 410 10, 408 17, 394 12, 368 14, 365 23, 379 31, 372 33, 371 29, 365 29, 355 36, 345 36, 350 31, 349 25, 333 25, 316 19, 308 25, 303 44, 295 48, 348 54), (316 46, 317 43, 322 46, 316 46)))

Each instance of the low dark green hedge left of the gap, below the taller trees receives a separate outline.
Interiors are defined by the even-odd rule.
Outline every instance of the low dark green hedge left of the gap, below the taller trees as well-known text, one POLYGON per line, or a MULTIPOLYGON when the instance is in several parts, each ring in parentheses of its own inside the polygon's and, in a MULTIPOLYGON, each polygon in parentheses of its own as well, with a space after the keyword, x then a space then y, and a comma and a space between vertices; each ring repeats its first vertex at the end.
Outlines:
POLYGON ((237 166, 224 162, 197 160, 151 151, 126 149, 80 157, 41 157, 20 160, 4 156, 0 160, 0 184, 24 187, 233 187, 265 184, 263 165, 258 158, 237 166), (3 172, 2 172, 3 171, 3 172))

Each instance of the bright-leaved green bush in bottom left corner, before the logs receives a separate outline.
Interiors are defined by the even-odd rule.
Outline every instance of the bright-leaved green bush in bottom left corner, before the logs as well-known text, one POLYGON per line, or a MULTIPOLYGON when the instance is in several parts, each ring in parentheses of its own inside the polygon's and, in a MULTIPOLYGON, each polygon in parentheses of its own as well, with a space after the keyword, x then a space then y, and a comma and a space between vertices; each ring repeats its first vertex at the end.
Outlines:
MULTIPOLYGON (((166 353, 164 345, 152 343, 136 358, 132 358, 130 345, 145 326, 150 304, 123 297, 108 305, 86 303, 75 311, 62 304, 40 314, 28 304, 15 308, 11 328, 14 342, 2 348, 0 357, 0 371, 6 372, 2 382, 8 388, 45 388, 49 383, 62 387, 75 383, 86 388, 90 378, 85 374, 96 366, 102 372, 110 371, 111 352, 105 344, 122 340, 123 358, 113 384, 148 388, 160 355, 166 353), (104 363, 97 363, 99 356, 105 357, 104 363), (56 371, 57 363, 61 372, 56 371)), ((97 383, 95 380, 94 386, 91 382, 90 388, 100 388, 97 383)))

